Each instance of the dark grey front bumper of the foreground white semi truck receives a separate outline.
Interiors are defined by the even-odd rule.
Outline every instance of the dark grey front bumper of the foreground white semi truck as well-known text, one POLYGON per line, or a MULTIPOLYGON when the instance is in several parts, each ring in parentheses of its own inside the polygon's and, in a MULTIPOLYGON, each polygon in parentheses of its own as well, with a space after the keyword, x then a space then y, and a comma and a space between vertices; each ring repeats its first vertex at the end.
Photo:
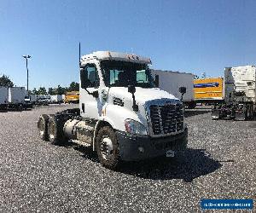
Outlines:
POLYGON ((188 144, 188 129, 177 135, 153 138, 150 136, 128 135, 116 131, 119 141, 120 158, 125 161, 138 161, 166 155, 167 150, 184 150, 188 144))

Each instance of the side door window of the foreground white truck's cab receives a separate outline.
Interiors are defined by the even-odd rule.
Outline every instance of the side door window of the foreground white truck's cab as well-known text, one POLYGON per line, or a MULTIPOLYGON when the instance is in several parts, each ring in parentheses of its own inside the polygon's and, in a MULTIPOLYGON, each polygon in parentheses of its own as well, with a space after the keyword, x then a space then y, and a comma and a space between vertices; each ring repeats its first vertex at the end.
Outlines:
POLYGON ((82 88, 97 88, 100 85, 98 72, 96 70, 96 65, 88 64, 81 71, 81 83, 82 88))

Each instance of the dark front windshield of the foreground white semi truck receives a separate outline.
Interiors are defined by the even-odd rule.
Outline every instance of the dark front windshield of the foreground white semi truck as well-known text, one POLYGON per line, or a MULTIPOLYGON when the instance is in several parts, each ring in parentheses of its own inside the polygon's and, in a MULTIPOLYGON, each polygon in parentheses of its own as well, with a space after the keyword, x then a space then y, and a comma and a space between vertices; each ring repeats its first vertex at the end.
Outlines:
POLYGON ((127 87, 129 84, 143 88, 154 87, 153 78, 146 64, 103 60, 101 65, 104 82, 108 87, 127 87))

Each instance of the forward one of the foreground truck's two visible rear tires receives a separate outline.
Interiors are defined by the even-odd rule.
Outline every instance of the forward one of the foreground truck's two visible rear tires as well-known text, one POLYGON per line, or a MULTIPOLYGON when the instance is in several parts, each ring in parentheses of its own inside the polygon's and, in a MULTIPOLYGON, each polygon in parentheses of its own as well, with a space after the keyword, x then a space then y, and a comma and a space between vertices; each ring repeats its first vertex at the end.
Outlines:
POLYGON ((61 119, 55 118, 55 116, 49 118, 48 122, 48 134, 49 141, 53 145, 63 145, 67 139, 63 132, 64 122, 61 119))

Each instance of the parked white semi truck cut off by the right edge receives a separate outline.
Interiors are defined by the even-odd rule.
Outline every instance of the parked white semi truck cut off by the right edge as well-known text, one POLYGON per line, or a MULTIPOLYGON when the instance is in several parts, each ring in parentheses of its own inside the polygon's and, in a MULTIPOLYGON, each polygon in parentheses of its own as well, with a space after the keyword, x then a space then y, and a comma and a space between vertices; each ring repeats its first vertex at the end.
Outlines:
POLYGON ((224 69, 224 103, 212 108, 212 118, 247 120, 256 112, 256 67, 236 66, 224 69))

